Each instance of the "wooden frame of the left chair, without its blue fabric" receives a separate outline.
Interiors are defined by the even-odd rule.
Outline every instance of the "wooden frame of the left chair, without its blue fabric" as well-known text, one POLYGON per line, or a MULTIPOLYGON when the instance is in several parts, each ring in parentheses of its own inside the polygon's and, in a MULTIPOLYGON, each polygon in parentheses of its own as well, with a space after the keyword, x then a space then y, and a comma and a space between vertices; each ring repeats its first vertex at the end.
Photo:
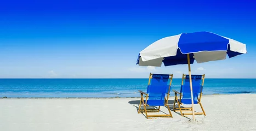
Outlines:
MULTIPOLYGON (((149 75, 149 83, 147 85, 150 85, 150 82, 151 82, 151 79, 152 79, 152 73, 150 73, 149 75)), ((139 91, 140 92, 140 104, 139 104, 139 110, 138 110, 138 114, 140 113, 143 113, 145 112, 146 114, 146 118, 149 118, 149 117, 173 117, 172 116, 172 113, 170 112, 170 108, 169 108, 169 105, 168 105, 168 99, 169 99, 169 95, 170 95, 170 85, 172 84, 172 81, 173 81, 173 74, 170 74, 169 75, 169 79, 170 79, 170 83, 169 83, 169 89, 168 89, 168 93, 167 93, 167 97, 164 97, 164 106, 167 106, 167 109, 169 111, 169 115, 147 115, 147 112, 159 112, 160 111, 160 106, 158 106, 158 109, 146 109, 146 106, 149 106, 147 104, 147 99, 149 98, 149 94, 143 92, 143 91, 139 91), (146 95, 146 100, 144 102, 144 97, 143 97, 143 94, 146 95), (144 110, 141 110, 141 104, 143 104, 144 106, 144 110)))

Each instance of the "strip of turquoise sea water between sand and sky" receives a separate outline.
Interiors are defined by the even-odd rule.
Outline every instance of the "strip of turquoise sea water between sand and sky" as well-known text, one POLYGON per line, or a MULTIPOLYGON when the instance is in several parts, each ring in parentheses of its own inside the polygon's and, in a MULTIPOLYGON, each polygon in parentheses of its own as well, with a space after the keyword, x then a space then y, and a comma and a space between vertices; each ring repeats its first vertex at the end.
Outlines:
MULTIPOLYGON (((0 97, 139 97, 148 79, 0 79, 0 97)), ((181 79, 172 89, 180 90, 181 79)), ((203 94, 256 93, 256 79, 205 79, 203 94)), ((174 93, 171 92, 173 96, 174 93)))

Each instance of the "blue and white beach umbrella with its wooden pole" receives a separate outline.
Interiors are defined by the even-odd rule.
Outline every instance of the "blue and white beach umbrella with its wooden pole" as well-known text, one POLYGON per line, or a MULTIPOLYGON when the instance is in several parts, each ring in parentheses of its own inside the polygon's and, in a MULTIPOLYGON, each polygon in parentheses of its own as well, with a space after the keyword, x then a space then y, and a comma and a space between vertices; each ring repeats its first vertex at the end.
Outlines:
POLYGON ((139 66, 161 67, 188 64, 193 121, 194 102, 190 64, 226 59, 247 53, 246 45, 211 32, 181 33, 162 38, 139 52, 139 66))

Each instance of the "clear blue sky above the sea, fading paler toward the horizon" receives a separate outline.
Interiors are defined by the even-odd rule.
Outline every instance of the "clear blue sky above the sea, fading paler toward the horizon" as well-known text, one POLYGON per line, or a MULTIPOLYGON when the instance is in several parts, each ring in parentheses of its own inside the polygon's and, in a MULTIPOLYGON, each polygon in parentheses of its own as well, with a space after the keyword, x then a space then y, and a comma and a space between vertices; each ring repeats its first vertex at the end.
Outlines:
POLYGON ((3 1, 0 78, 147 78, 187 74, 187 65, 139 67, 154 41, 209 31, 248 53, 193 64, 207 78, 256 78, 256 3, 250 1, 3 1))

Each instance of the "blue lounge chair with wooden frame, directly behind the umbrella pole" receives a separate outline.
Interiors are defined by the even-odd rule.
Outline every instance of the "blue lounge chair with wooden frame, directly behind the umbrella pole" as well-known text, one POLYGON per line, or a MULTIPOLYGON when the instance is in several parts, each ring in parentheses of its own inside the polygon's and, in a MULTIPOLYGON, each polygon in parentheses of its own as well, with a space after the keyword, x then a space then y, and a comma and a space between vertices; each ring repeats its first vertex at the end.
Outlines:
MULTIPOLYGON (((195 115, 206 116, 206 112, 204 112, 203 106, 201 104, 204 76, 205 76, 204 74, 203 75, 191 75, 194 104, 199 104, 203 111, 203 112, 195 112, 195 115)), ((182 112, 182 111, 192 111, 192 108, 181 108, 180 107, 181 104, 191 104, 191 91, 190 91, 189 75, 183 74, 180 92, 175 91, 175 90, 173 90, 173 92, 175 93, 173 111, 176 111, 177 109, 179 109, 181 116, 192 115, 192 112, 191 113, 183 113, 182 112), (179 99, 178 99, 177 94, 179 94, 179 99), (175 108, 176 102, 178 104, 178 108, 175 108)))

